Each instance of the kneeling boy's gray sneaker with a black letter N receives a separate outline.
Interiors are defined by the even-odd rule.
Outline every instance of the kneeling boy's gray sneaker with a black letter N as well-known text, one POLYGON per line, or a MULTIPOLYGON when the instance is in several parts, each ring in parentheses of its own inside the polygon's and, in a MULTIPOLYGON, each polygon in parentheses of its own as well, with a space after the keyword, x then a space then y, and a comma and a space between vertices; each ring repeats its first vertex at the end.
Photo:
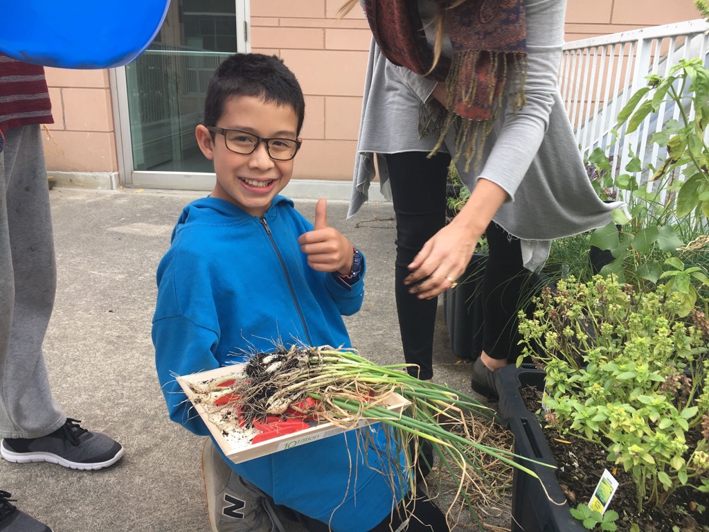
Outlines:
POLYGON ((208 439, 202 451, 207 514, 212 532, 273 532, 268 497, 229 467, 208 439))

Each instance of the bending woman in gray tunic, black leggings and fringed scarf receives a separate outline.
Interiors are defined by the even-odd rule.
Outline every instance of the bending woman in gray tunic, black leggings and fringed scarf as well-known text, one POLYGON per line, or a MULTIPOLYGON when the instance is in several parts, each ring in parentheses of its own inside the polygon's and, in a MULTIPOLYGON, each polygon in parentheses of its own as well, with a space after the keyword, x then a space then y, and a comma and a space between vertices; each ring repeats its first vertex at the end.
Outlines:
MULTIPOLYGON (((343 6, 347 12, 357 0, 343 6)), ((430 379, 438 294, 485 233, 483 351, 471 384, 518 356, 520 292, 551 240, 610 222, 591 187, 557 74, 565 0, 361 0, 373 40, 350 211, 379 169, 396 213, 395 291, 406 362, 430 379), (471 195, 445 226, 447 168, 471 195)))

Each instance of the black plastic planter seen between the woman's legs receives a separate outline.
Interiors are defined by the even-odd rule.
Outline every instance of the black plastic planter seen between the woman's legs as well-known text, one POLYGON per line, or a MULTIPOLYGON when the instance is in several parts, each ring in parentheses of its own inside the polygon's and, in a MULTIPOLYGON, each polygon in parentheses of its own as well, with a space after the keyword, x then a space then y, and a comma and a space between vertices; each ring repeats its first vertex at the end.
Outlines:
POLYGON ((443 292, 443 319, 450 346, 459 357, 475 360, 482 351, 483 304, 481 282, 487 255, 475 253, 457 287, 443 292))

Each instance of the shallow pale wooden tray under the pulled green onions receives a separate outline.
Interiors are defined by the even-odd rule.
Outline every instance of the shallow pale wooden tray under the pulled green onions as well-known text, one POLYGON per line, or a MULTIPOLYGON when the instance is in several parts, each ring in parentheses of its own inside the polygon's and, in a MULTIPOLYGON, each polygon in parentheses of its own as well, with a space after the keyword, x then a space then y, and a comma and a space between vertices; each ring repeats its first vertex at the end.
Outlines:
MULTIPOLYGON (((284 436, 277 436, 276 438, 264 440, 259 443, 251 443, 253 436, 260 433, 260 431, 256 428, 235 427, 233 431, 228 431, 225 433, 222 428, 216 424, 214 416, 218 414, 208 411, 208 409, 205 409, 203 404, 196 400, 197 396, 194 392, 192 392, 189 384, 205 384, 208 382, 215 382, 216 384, 219 384, 220 382, 225 381, 225 377, 241 372, 243 367, 244 364, 235 364, 225 367, 218 367, 216 370, 208 370, 177 377, 177 382, 180 384, 184 390, 184 393, 191 401, 194 409, 203 419, 214 440, 218 443, 227 458, 235 463, 245 462, 247 460, 252 460, 252 458, 259 458, 260 456, 269 455, 271 453, 277 453, 279 450, 291 449, 297 447, 298 445, 306 445, 306 443, 322 440, 323 438, 335 436, 336 434, 369 425, 371 423, 379 423, 378 421, 373 421, 372 419, 362 419, 356 426, 352 426, 351 428, 342 428, 330 422, 311 422, 308 423, 311 424, 310 428, 306 428, 295 433, 286 434, 284 436)), ((386 408, 395 412, 403 411, 403 409, 410 404, 410 401, 404 399, 401 395, 396 393, 387 395, 381 402, 381 406, 386 406, 386 408)), ((223 408, 224 407, 222 407, 222 409, 223 408)))

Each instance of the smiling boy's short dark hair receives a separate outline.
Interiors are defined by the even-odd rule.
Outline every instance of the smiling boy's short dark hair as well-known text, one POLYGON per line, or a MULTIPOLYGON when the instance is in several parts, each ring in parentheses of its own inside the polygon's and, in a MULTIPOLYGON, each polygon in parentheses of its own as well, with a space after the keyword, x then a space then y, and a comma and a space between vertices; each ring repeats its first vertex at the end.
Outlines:
POLYGON ((225 102, 233 96, 252 96, 266 103, 291 106, 298 116, 296 135, 301 133, 306 109, 303 91, 293 72, 275 55, 238 53, 217 67, 204 99, 205 126, 216 126, 225 102))

